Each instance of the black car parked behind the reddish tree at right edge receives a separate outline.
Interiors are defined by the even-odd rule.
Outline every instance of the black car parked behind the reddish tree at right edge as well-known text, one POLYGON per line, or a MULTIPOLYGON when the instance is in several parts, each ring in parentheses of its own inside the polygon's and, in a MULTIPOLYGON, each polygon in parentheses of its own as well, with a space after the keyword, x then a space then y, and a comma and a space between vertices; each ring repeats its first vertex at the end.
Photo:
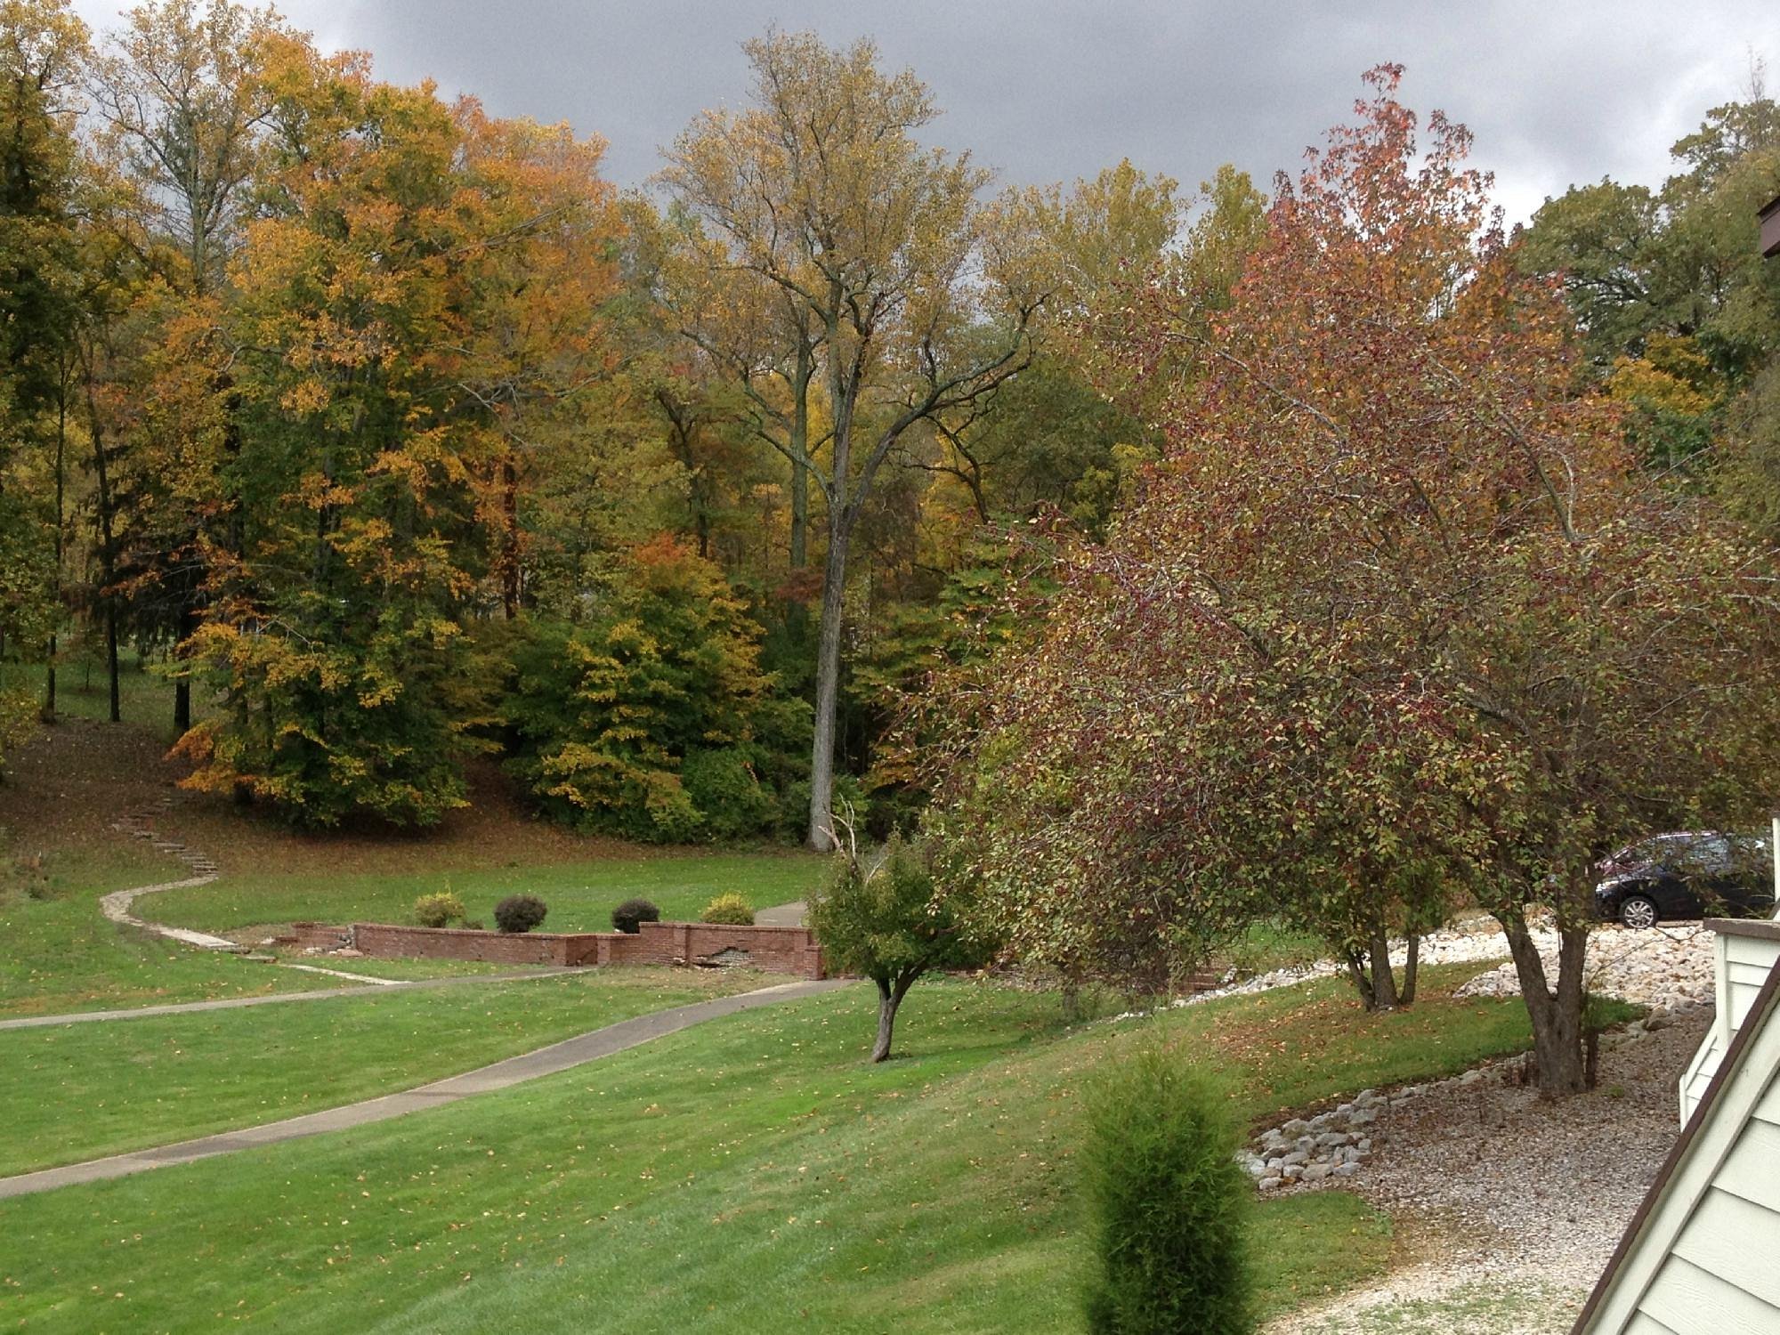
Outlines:
POLYGON ((1654 835, 1602 858, 1595 872, 1595 913, 1627 927, 1709 911, 1766 917, 1775 910, 1773 853, 1755 835, 1654 835))

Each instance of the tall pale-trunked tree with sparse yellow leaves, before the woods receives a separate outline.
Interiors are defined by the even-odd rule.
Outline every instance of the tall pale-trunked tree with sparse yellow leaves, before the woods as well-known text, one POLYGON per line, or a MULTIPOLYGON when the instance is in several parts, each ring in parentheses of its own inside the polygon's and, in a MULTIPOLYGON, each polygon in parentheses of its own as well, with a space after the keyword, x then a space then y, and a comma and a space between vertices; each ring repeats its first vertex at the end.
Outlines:
POLYGON ((662 182, 721 242, 723 272, 764 294, 746 304, 774 336, 819 338, 828 449, 819 459, 806 440, 792 463, 828 511, 808 821, 826 849, 847 555, 865 504, 911 427, 1027 363, 1043 294, 986 226, 986 174, 915 139, 936 110, 913 73, 885 75, 869 41, 769 34, 746 50, 755 105, 698 117, 662 182))

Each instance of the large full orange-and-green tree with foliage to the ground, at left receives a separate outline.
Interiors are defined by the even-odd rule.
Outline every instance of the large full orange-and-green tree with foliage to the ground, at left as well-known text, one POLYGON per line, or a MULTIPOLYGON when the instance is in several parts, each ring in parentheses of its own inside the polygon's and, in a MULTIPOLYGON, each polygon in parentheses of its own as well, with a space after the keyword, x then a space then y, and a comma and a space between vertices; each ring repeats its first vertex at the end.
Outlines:
POLYGON ((429 87, 283 43, 262 217, 233 272, 240 541, 212 548, 198 671, 224 698, 189 783, 292 819, 429 824, 482 717, 461 612, 486 570, 456 365, 490 239, 429 87))

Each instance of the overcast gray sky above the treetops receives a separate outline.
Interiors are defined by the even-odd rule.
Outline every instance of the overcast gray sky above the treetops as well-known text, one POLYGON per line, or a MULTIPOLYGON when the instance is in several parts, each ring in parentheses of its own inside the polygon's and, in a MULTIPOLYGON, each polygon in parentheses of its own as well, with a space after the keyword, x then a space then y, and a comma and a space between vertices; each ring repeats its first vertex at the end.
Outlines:
MULTIPOLYGON (((77 0, 109 27, 119 0, 77 0)), ((363 48, 397 82, 431 75, 491 112, 611 141, 639 185, 701 109, 748 93, 740 43, 776 23, 829 43, 872 36, 945 116, 929 139, 1013 183, 1132 158, 1187 187, 1235 162, 1266 185, 1344 119, 1360 73, 1408 66, 1404 100, 1477 135, 1522 219, 1572 182, 1655 183, 1668 146, 1748 85, 1780 84, 1773 0, 283 0, 326 48, 363 48)))

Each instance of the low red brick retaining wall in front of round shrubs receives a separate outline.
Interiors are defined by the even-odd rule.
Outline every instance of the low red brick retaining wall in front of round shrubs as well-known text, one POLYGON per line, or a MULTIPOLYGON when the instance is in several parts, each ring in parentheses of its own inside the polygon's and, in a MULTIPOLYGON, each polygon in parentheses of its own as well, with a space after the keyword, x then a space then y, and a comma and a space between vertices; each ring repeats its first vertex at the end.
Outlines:
MULTIPOLYGON (((340 927, 303 924, 317 945, 338 945, 340 927)), ((774 974, 824 977, 822 951, 808 927, 726 927, 712 922, 644 922, 637 933, 618 931, 468 931, 463 927, 399 927, 356 922, 352 945, 360 954, 392 959, 486 959, 502 965, 700 965, 730 954, 724 963, 746 963, 774 974), (742 959, 740 956, 746 956, 742 959)), ((303 942, 304 945, 310 942, 303 942)))

